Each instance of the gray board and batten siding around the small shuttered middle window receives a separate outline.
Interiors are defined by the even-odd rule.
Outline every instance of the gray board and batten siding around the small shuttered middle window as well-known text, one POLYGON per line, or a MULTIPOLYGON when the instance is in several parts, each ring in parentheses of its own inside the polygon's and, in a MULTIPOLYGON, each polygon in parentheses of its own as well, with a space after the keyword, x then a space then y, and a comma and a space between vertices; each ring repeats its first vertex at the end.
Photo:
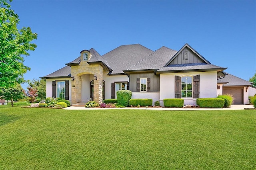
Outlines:
POLYGON ((130 73, 130 90, 132 92, 137 91, 137 78, 150 78, 150 90, 148 92, 159 92, 159 75, 155 75, 154 72, 150 73, 130 73))

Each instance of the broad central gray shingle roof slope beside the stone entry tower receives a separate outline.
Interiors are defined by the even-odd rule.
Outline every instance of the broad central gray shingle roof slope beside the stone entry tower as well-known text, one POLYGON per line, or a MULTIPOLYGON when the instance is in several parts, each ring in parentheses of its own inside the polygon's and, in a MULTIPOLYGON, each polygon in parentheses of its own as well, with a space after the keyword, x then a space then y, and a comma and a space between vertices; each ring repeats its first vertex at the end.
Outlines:
POLYGON ((142 59, 152 53, 152 50, 140 44, 121 45, 104 54, 102 57, 108 62, 110 68, 113 70, 110 74, 124 74, 123 70, 142 61, 142 59))

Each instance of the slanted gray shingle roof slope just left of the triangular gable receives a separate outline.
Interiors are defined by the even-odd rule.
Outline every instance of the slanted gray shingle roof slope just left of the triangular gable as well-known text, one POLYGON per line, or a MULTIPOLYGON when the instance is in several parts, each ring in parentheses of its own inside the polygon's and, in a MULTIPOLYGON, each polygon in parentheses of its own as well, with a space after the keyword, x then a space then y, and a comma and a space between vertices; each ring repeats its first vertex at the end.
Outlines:
POLYGON ((172 50, 163 46, 151 55, 144 57, 144 59, 126 69, 125 71, 162 68, 176 53, 176 50, 172 50))

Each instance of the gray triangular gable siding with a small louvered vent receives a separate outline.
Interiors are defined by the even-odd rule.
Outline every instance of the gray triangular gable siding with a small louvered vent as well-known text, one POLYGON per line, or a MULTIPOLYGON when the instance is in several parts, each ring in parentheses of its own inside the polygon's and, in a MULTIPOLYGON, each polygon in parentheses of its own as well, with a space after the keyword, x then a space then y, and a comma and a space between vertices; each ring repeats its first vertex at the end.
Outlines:
MULTIPOLYGON (((189 48, 184 48, 170 64, 205 63, 198 55, 189 48), (184 55, 185 52, 185 55, 184 55), (187 59, 186 59, 187 58, 187 59)), ((169 64, 169 65, 170 65, 169 64)))

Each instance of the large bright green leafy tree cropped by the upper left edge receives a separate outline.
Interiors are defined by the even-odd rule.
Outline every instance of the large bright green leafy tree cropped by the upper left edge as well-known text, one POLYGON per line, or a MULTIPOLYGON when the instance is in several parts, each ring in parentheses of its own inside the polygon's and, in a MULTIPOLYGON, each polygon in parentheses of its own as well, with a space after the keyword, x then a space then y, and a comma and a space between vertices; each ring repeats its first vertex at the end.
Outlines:
POLYGON ((12 87, 24 82, 23 74, 30 70, 23 64, 22 55, 28 56, 28 50, 34 51, 37 39, 30 27, 18 29, 18 15, 10 9, 12 0, 0 0, 0 87, 12 87))

